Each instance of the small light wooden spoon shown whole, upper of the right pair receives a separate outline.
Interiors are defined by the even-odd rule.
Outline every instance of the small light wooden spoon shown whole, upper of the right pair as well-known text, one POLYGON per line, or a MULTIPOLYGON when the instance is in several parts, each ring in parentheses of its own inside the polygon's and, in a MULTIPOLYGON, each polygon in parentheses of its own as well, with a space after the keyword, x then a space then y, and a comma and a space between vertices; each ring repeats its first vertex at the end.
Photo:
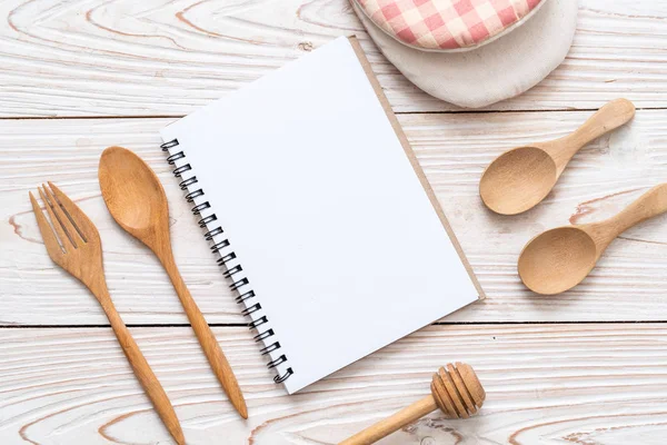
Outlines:
POLYGON ((626 123, 633 116, 633 102, 616 99, 568 136, 504 152, 481 176, 481 200, 500 215, 517 215, 535 207, 551 191, 569 160, 581 147, 626 123))

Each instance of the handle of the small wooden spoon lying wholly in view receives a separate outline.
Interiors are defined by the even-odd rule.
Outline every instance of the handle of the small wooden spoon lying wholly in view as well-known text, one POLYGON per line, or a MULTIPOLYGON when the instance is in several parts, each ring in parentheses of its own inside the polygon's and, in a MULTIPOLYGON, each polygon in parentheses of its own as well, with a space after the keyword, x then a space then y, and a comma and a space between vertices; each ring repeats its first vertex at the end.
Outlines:
POLYGON ((633 119, 633 116, 635 116, 633 102, 627 99, 613 100, 603 106, 581 127, 568 136, 568 145, 576 147, 575 151, 577 151, 591 140, 626 123, 633 119))

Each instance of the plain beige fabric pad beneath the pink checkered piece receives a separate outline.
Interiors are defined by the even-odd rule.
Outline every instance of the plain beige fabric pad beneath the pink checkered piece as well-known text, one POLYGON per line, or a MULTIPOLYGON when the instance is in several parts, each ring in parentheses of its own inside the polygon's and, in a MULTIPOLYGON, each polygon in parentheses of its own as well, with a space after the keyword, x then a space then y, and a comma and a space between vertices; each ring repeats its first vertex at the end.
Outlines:
POLYGON ((479 108, 522 93, 567 55, 577 24, 577 0, 546 0, 520 27, 466 52, 420 51, 398 42, 352 7, 382 53, 412 83, 439 99, 479 108))

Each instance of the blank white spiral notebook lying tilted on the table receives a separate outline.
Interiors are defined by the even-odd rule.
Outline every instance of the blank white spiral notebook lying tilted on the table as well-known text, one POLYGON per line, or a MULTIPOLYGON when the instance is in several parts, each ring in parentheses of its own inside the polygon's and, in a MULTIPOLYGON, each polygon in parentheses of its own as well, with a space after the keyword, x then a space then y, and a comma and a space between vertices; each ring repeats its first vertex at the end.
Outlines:
POLYGON ((355 38, 161 136, 289 393, 481 296, 355 38))

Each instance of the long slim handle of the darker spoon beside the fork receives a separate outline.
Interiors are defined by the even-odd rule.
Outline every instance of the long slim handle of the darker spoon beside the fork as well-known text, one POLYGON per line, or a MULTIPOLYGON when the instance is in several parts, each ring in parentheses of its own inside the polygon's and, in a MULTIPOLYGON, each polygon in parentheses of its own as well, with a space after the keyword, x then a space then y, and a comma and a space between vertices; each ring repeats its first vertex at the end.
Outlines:
POLYGON ((233 375, 233 370, 227 362, 227 357, 222 353, 213 332, 209 327, 208 323, 203 318, 203 314, 199 310, 199 307, 195 303, 195 299, 190 295, 186 283, 183 281, 176 263, 173 261, 173 256, 169 255, 170 258, 166 258, 162 264, 165 265, 165 269, 167 269, 167 274, 169 274, 169 278, 173 284, 176 293, 183 306, 183 310, 192 325, 192 330, 197 335, 199 339, 199 344, 203 349, 203 354, 211 365, 211 369, 216 374, 216 377, 222 385, 222 389, 229 397, 229 400, 236 408, 236 411, 243 418, 248 418, 248 407, 246 406, 246 399, 243 398, 243 393, 241 393, 241 388, 239 383, 233 375))

